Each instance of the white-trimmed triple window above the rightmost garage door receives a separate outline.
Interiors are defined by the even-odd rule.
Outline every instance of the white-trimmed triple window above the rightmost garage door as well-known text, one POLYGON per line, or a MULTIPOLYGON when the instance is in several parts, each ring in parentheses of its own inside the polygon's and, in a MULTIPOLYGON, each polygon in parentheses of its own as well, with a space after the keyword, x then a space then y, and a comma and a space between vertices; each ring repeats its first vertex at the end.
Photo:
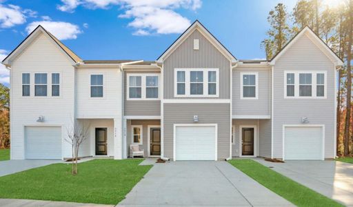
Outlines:
POLYGON ((310 99, 326 97, 326 71, 285 71, 284 97, 310 99))

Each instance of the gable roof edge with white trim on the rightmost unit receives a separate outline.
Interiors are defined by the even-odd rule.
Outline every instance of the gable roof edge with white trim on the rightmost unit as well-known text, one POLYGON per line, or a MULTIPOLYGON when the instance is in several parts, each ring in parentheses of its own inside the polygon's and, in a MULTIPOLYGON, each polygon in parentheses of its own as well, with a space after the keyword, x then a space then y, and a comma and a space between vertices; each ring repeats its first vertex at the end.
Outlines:
POLYGON ((343 65, 342 59, 338 55, 336 55, 336 53, 329 46, 327 46, 327 44, 317 34, 315 34, 315 32, 309 26, 305 26, 305 28, 303 28, 290 41, 288 41, 288 43, 285 44, 282 50, 277 52, 277 54, 274 55, 272 59, 270 59, 270 64, 274 65, 274 63, 276 63, 276 60, 279 59, 285 53, 285 51, 287 51, 300 37, 302 37, 303 34, 307 34, 312 37, 312 41, 314 41, 316 46, 319 45, 318 47, 323 50, 325 55, 330 56, 329 58, 334 61, 334 64, 336 66, 343 65))

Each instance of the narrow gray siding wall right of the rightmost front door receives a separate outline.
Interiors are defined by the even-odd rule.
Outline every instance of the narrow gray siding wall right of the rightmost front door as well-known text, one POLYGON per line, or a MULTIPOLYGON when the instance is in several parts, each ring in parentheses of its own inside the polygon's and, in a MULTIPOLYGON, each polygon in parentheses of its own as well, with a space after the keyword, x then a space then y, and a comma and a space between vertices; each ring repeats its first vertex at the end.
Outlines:
POLYGON ((271 157, 271 119, 259 121, 259 157, 271 157))

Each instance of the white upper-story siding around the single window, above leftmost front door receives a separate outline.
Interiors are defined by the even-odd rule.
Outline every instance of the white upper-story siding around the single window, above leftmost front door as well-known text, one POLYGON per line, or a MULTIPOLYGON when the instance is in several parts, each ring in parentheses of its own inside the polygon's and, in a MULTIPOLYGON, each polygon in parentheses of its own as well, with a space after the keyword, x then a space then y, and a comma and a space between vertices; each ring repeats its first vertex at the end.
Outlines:
POLYGON ((110 119, 121 116, 122 72, 119 68, 76 70, 76 113, 78 119, 110 119), (90 76, 103 75, 103 97, 91 97, 90 76))

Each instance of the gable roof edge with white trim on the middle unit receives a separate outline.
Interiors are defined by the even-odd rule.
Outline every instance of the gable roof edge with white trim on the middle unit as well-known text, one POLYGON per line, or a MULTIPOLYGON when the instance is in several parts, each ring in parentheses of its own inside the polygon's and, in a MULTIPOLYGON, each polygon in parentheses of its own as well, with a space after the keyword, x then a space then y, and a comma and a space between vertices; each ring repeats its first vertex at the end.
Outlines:
POLYGON ((177 49, 181 43, 183 43, 183 41, 185 41, 185 39, 189 37, 189 35, 192 34, 192 32, 196 29, 199 30, 201 34, 203 34, 206 39, 208 39, 212 45, 214 45, 223 55, 225 55, 225 57, 228 57, 228 59, 230 59, 232 62, 237 61, 236 57, 234 57, 234 55, 232 55, 232 53, 227 48, 225 48, 225 46, 223 46, 223 44, 218 39, 216 39, 216 37, 214 37, 214 35, 208 31, 208 29, 206 29, 205 26, 199 22, 199 20, 196 20, 172 43, 172 45, 167 48, 167 50, 162 53, 162 55, 157 58, 157 62, 161 63, 164 59, 169 57, 172 51, 177 49))

